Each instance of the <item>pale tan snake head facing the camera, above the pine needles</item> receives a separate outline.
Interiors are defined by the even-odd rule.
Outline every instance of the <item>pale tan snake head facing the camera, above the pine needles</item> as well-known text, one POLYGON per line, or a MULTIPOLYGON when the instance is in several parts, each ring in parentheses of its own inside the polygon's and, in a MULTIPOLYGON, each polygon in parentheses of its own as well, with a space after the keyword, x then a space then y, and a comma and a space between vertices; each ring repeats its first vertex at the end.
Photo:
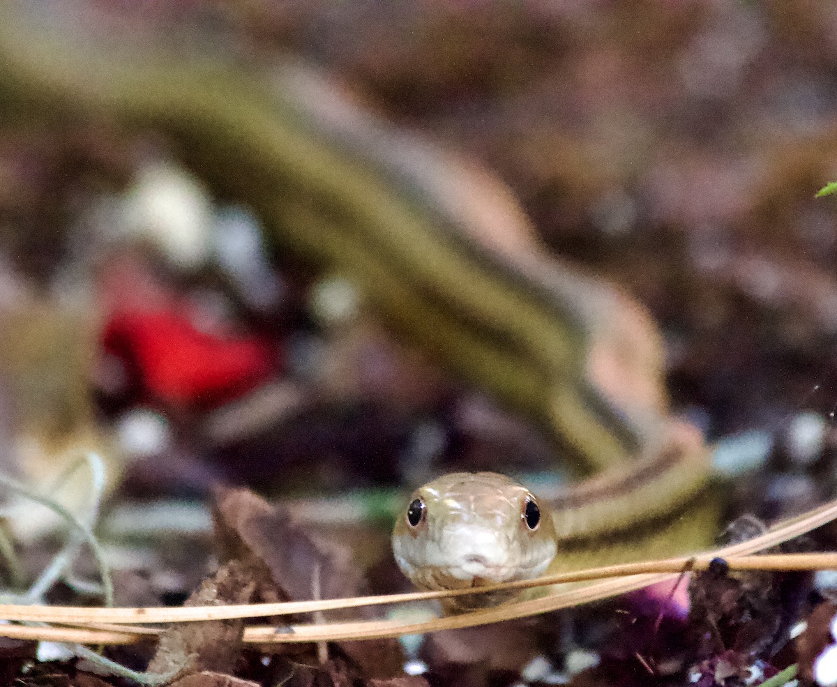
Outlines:
MULTIPOLYGON (((401 571, 424 590, 538 577, 556 554, 552 516, 503 474, 453 473, 413 492, 393 531, 401 571)), ((444 600, 446 611, 493 606, 518 590, 444 600)))

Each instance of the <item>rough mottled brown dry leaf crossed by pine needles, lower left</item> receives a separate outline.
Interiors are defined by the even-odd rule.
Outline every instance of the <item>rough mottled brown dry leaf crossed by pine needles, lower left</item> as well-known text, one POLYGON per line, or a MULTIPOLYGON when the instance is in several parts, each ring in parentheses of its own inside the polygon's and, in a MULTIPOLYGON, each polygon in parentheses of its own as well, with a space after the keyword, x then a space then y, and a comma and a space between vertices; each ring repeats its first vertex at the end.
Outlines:
MULTIPOLYGON (((256 586, 249 567, 239 561, 227 561, 183 605, 251 603, 256 586)), ((182 623, 169 628, 162 634, 148 670, 168 673, 179 667, 177 677, 203 670, 232 672, 241 654, 243 633, 244 621, 240 619, 182 623)))

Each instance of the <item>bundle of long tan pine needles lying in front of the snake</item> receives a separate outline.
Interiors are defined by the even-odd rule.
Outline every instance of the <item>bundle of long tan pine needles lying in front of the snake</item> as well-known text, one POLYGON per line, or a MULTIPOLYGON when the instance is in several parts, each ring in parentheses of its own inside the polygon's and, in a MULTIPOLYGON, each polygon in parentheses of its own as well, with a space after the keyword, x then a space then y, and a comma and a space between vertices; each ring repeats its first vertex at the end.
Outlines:
MULTIPOLYGON (((758 570, 814 570, 837 567, 837 554, 783 554, 751 556, 757 551, 776 546, 783 541, 816 529, 837 518, 837 501, 819 506, 775 526, 771 531, 740 544, 725 546, 713 551, 701 553, 692 558, 670 558, 664 561, 645 561, 623 566, 608 566, 587 571, 565 573, 542 577, 527 582, 498 585, 496 587, 535 587, 553 585, 557 582, 578 582, 592 578, 614 577, 603 582, 592 582, 582 587, 575 587, 564 592, 553 592, 545 597, 521 602, 512 602, 497 608, 480 609, 459 616, 437 618, 425 623, 406 623, 397 620, 371 620, 349 623, 299 624, 280 628, 247 628, 244 639, 254 643, 298 643, 318 642, 337 639, 362 639, 376 637, 394 637, 402 634, 428 633, 442 629, 465 628, 487 623, 499 623, 504 620, 524 618, 526 616, 547 613, 559 608, 578 606, 582 603, 614 597, 624 592, 647 587, 655 582, 664 582, 677 577, 685 569, 706 567, 716 557, 723 557, 732 568, 758 570)), ((7 620, 28 622, 67 623, 74 626, 87 623, 177 623, 188 621, 208 621, 230 618, 259 618, 289 613, 311 613, 312 611, 335 608, 353 608, 372 604, 416 601, 466 593, 483 593, 494 587, 479 587, 470 590, 447 592, 413 592, 392 594, 379 597, 353 597, 348 599, 326 599, 313 602, 263 603, 237 606, 212 606, 188 608, 73 608, 73 607, 33 607, 0 606, 0 617, 7 620)), ((77 641, 78 643, 124 643, 140 641, 147 633, 132 633, 127 630, 85 629, 85 628, 18 628, 13 625, 0 626, 0 636, 26 638, 47 638, 40 634, 49 630, 54 641, 77 641), (26 631, 26 632, 24 632, 26 631), (74 633, 87 633, 83 640, 59 639, 59 637, 77 636, 74 633)))

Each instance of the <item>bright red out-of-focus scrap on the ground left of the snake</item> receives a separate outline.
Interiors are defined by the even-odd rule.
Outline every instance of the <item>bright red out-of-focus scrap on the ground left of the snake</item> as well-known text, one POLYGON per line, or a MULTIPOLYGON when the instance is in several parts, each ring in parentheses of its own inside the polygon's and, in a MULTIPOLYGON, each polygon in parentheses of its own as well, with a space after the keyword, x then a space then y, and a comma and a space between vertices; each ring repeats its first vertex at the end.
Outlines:
POLYGON ((105 326, 103 346, 122 361, 141 395, 181 407, 231 401, 277 367, 267 341, 200 331, 177 310, 117 312, 105 326))

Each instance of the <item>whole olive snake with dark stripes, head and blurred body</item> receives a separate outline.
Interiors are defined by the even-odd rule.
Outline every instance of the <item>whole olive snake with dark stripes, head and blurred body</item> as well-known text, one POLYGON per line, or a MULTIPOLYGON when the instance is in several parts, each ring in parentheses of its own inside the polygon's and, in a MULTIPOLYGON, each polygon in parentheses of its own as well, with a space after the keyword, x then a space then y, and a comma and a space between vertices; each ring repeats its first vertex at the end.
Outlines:
POLYGON ((549 499, 552 517, 525 544, 506 536, 521 533, 519 485, 455 476, 420 490, 434 535, 414 546, 402 519, 394 543, 421 586, 706 543, 709 452, 670 416, 653 321, 549 256, 506 187, 375 120, 311 69, 242 64, 193 33, 91 39, 95 22, 74 3, 42 5, 0 6, 0 123, 105 119, 162 133, 218 197, 253 208, 278 248, 352 279, 393 331, 527 415, 565 465, 593 474, 549 499), (443 522, 453 529, 437 536, 443 522), (449 551, 465 551, 463 567, 443 570, 449 551))

